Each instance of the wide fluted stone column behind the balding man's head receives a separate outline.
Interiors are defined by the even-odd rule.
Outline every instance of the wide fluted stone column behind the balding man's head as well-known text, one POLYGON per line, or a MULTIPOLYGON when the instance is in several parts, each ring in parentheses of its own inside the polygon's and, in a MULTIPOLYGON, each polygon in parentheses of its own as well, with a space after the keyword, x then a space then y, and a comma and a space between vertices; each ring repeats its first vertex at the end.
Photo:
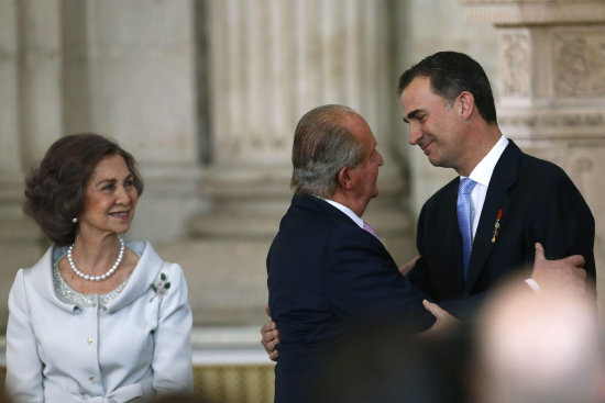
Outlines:
MULTIPOLYGON (((251 206, 256 212, 283 214, 292 194, 294 128, 317 105, 342 103, 359 111, 380 149, 391 157, 396 79, 385 23, 389 21, 387 3, 209 2, 215 159, 208 189, 217 206, 230 210, 230 217, 238 210, 251 216, 251 206)), ((389 189, 403 189, 397 171, 395 163, 383 168, 383 201, 389 189)), ((208 234, 209 228, 229 227, 241 233, 241 221, 230 217, 220 223, 200 222, 195 231, 208 234)), ((266 224, 263 220, 245 231, 263 228, 274 234, 275 220, 270 227, 266 224)))

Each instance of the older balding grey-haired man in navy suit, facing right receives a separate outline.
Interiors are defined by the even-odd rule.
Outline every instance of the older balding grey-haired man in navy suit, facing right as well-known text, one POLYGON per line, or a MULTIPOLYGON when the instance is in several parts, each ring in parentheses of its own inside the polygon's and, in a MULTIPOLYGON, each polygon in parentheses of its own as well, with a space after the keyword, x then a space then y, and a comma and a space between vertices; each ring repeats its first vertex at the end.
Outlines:
POLYGON ((376 139, 351 109, 324 105, 300 119, 295 195, 267 255, 270 306, 282 340, 275 402, 316 401, 322 362, 354 331, 398 323, 420 332, 435 323, 422 306, 426 296, 361 219, 378 192, 381 165, 376 139))

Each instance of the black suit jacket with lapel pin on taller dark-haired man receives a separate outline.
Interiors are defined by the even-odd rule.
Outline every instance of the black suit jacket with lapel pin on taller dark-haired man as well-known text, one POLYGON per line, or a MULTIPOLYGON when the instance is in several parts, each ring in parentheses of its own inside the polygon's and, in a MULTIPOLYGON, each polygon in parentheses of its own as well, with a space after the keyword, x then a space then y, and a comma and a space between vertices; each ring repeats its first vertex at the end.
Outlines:
POLYGON ((450 300, 442 307, 458 316, 472 315, 498 280, 531 269, 536 242, 542 243, 548 259, 584 256, 594 284, 595 224, 586 202, 561 168, 521 153, 512 141, 492 175, 464 281, 459 183, 455 178, 422 206, 417 231, 421 258, 409 273, 436 302, 450 300))

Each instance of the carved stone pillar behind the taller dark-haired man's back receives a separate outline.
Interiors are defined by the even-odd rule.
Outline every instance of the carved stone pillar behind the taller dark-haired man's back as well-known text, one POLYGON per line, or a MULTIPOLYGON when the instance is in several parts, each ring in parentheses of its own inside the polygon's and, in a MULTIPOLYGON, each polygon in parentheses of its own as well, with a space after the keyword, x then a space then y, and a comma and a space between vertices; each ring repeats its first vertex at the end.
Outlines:
POLYGON ((561 166, 596 220, 605 309, 605 2, 461 0, 498 31, 498 122, 527 153, 561 166))

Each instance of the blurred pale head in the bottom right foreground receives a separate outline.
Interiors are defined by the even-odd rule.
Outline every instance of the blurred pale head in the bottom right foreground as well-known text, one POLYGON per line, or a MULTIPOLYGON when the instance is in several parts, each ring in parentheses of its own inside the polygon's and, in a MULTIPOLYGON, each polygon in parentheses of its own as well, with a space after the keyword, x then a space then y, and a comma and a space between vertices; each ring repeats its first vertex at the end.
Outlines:
POLYGON ((566 291, 502 288, 477 320, 473 390, 480 403, 605 401, 594 300, 566 291))

